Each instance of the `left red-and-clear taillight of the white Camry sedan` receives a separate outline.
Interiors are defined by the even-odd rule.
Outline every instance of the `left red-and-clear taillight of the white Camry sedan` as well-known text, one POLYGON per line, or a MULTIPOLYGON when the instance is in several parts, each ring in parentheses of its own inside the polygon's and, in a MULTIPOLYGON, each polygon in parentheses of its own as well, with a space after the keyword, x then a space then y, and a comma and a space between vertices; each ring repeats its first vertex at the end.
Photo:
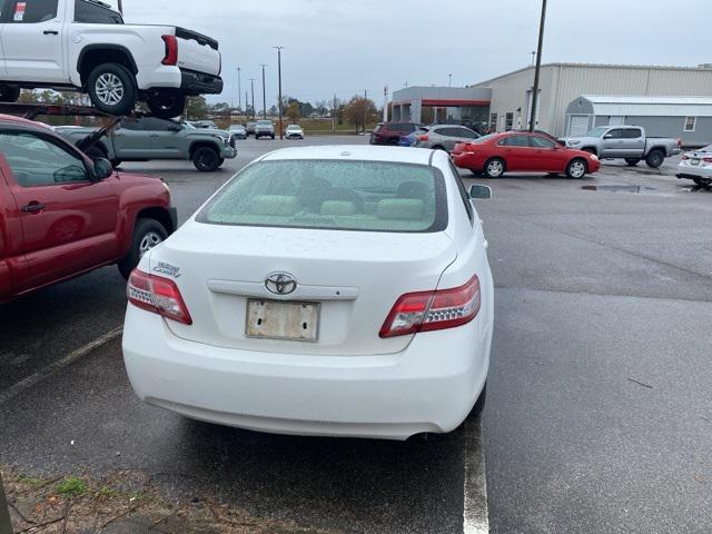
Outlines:
POLYGON ((178 286, 172 280, 160 276, 147 275, 134 269, 126 288, 126 296, 134 306, 152 312, 167 319, 192 325, 178 286))

